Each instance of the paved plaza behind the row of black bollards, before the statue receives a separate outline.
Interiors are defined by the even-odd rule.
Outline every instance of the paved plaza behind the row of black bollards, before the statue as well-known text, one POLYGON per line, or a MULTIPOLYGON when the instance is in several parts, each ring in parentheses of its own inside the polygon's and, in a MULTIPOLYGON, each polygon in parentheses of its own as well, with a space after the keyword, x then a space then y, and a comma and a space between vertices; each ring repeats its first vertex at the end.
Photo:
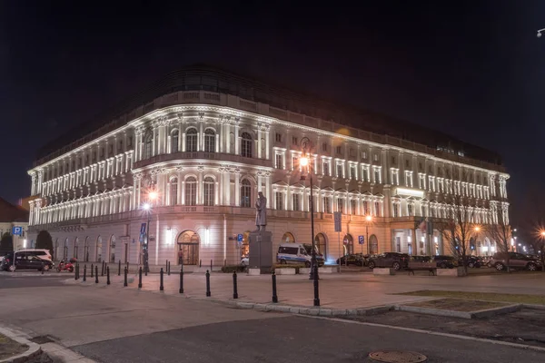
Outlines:
MULTIPOLYGON (((502 274, 471 278, 450 278, 436 276, 373 276, 370 274, 321 274, 320 299, 322 308, 361 309, 382 305, 395 305, 412 301, 430 299, 394 295, 421 289, 448 289, 482 292, 524 293, 545 295, 545 274, 502 274)), ((268 304, 272 302, 272 279, 270 275, 248 276, 240 273, 238 277, 239 302, 268 304)), ((312 307, 313 285, 306 275, 279 275, 277 294, 280 304, 312 307)), ((123 288, 123 276, 112 276, 112 285, 123 288)), ((76 281, 69 281, 76 283, 76 281)), ((99 283, 87 279, 86 285, 105 285, 105 277, 99 283)), ((79 283, 79 282, 77 282, 79 283)), ((179 272, 171 276, 164 274, 164 293, 179 294, 179 272)), ((212 297, 208 299, 233 300, 233 275, 212 273, 210 278, 212 297)), ((129 287, 137 288, 138 277, 129 276, 129 287)), ((205 276, 202 273, 187 273, 183 279, 184 296, 196 299, 205 297, 205 276)), ((159 275, 143 276, 144 290, 159 291, 159 275)))

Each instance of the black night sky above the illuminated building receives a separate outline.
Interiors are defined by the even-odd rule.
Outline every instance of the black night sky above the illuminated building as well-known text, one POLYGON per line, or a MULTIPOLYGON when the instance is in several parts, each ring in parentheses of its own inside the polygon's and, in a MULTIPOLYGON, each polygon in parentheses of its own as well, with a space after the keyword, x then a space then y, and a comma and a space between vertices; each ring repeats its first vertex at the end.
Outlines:
POLYGON ((29 194, 26 171, 56 135, 194 63, 500 152, 511 218, 545 187, 543 1, 176 3, 0 1, 1 197, 29 194))

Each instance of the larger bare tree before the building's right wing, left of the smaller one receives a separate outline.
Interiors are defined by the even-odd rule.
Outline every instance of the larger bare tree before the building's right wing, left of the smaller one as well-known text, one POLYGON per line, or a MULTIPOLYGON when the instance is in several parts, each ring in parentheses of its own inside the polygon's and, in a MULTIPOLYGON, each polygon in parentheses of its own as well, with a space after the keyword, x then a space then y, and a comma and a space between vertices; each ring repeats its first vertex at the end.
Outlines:
POLYGON ((452 254, 461 260, 466 274, 471 253, 470 240, 475 234, 472 223, 474 214, 474 208, 468 198, 453 195, 448 200, 446 219, 438 223, 443 240, 451 247, 452 254))

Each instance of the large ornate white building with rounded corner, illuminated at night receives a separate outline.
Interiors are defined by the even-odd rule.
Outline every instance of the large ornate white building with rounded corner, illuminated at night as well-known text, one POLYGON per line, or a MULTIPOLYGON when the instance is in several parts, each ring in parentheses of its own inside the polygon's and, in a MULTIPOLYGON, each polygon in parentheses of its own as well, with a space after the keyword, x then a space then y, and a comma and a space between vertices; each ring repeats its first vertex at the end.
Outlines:
MULTIPOLYGON (((151 264, 238 263, 258 191, 276 245, 308 243, 303 154, 314 238, 329 262, 351 251, 448 253, 439 231, 418 226, 445 218, 449 196, 471 199, 475 223, 508 213, 509 175, 492 152, 215 69, 170 74, 99 122, 45 147, 28 172, 29 238, 49 231, 57 259, 140 263, 149 218, 151 264)), ((493 252, 477 240, 479 254, 493 252)))

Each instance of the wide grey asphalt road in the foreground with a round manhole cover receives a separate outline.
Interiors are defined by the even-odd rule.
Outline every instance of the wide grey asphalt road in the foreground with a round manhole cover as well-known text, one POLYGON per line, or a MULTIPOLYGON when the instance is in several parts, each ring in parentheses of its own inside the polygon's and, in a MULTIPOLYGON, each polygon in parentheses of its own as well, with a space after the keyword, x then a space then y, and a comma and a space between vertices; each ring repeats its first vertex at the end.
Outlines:
POLYGON ((1 274, 0 326, 108 363, 369 362, 378 349, 441 363, 545 361, 545 353, 472 338, 233 309, 116 284, 59 286, 66 277, 1 274))

